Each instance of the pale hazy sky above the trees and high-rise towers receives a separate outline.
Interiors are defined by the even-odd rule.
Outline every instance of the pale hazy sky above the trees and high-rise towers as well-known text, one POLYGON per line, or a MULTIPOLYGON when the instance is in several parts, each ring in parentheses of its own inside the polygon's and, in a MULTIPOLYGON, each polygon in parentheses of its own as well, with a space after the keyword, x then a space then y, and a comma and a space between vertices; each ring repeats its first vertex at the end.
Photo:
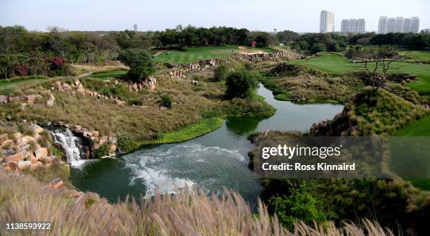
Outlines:
POLYGON ((178 24, 246 27, 272 31, 318 32, 321 10, 334 12, 335 29, 346 18, 365 18, 368 31, 378 18, 418 16, 419 29, 430 27, 429 0, 0 0, 0 25, 46 30, 157 30, 178 24))

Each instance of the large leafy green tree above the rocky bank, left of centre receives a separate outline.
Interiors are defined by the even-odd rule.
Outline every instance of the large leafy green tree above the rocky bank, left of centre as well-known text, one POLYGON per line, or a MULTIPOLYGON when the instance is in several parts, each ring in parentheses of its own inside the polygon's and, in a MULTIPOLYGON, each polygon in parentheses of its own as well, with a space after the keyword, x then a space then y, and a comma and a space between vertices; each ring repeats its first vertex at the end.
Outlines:
POLYGON ((130 67, 127 77, 131 81, 143 81, 155 72, 152 59, 143 49, 125 49, 119 54, 118 59, 130 67))

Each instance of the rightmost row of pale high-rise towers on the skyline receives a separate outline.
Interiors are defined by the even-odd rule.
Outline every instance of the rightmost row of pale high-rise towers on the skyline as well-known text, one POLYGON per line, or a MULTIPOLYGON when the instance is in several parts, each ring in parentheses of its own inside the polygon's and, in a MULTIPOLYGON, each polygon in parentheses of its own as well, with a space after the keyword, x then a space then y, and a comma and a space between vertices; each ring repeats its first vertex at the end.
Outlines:
POLYGON ((398 16, 396 18, 386 18, 386 16, 381 16, 379 18, 378 33, 417 33, 419 31, 419 18, 403 18, 398 16))

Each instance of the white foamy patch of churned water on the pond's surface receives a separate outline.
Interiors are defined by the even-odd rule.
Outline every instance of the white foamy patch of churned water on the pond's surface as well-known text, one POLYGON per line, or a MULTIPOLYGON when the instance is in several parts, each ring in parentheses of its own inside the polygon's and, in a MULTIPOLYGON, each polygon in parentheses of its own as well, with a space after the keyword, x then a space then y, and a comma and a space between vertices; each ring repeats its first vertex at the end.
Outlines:
POLYGON ((141 150, 124 156, 124 160, 133 173, 130 184, 143 181, 148 197, 157 188, 161 193, 190 190, 194 186, 204 192, 218 192, 211 187, 222 185, 220 178, 226 176, 225 166, 234 171, 235 165, 230 163, 245 162, 245 157, 237 150, 188 143, 141 150))

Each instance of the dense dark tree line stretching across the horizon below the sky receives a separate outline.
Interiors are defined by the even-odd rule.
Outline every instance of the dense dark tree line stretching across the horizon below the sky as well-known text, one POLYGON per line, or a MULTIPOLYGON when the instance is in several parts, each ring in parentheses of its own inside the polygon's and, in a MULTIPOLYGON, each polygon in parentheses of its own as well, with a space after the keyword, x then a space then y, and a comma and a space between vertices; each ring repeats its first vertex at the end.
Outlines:
MULTIPOLYGON (((147 51, 152 48, 185 49, 190 46, 249 45, 252 41, 256 41, 256 46, 287 44, 304 53, 345 51, 351 44, 391 44, 424 49, 430 47, 430 34, 297 34, 289 30, 269 34, 249 32, 244 28, 191 25, 156 32, 70 32, 58 27, 51 27, 48 32, 30 32, 18 25, 0 26, 0 78, 70 74, 67 63, 101 65, 116 60, 120 51, 128 48, 147 51)), ((359 49, 354 47, 349 53, 359 49)))

